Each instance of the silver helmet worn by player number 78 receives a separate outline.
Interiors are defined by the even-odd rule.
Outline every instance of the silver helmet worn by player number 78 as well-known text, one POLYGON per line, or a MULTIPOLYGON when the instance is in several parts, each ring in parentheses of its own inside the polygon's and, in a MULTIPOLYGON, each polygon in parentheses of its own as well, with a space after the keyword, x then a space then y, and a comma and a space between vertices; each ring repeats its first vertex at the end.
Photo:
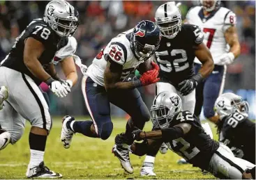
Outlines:
POLYGON ((78 26, 77 10, 64 0, 47 3, 43 19, 61 37, 72 35, 78 26))

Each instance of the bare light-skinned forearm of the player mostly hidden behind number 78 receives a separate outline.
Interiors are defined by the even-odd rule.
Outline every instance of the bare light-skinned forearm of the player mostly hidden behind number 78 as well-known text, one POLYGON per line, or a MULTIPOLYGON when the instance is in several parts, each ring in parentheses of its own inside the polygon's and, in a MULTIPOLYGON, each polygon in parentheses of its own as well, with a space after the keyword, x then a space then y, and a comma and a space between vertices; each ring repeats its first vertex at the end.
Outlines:
POLYGON ((73 56, 69 56, 68 58, 65 58, 61 62, 61 69, 63 73, 66 76, 66 81, 70 83, 70 86, 72 87, 77 83, 77 69, 75 67, 75 61, 73 59, 73 56))

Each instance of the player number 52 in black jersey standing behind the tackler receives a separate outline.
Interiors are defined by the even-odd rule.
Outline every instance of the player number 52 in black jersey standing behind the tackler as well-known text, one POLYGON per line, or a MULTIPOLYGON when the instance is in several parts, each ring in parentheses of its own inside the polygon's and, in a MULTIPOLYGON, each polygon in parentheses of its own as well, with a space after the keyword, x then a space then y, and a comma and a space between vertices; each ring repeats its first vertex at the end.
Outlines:
MULTIPOLYGON (((156 61, 160 66, 160 81, 156 83, 156 94, 163 91, 175 92, 183 100, 183 109, 194 112, 195 87, 213 70, 211 53, 203 43, 204 34, 192 24, 182 24, 181 11, 174 2, 167 2, 156 10, 156 24, 163 36, 156 50, 156 61), (202 63, 198 72, 194 72, 195 57, 202 63)), ((160 147, 166 153, 167 146, 160 147), (164 151, 165 150, 165 151, 164 151)), ((142 165, 142 176, 156 176, 153 163, 157 152, 147 154, 142 165)))

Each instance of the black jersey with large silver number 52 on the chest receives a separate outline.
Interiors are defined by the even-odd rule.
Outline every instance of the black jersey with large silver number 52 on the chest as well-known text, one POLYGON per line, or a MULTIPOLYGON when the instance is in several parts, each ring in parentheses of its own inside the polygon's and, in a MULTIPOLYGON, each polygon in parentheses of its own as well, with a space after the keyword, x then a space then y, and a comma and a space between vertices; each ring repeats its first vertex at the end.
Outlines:
POLYGON ((204 34, 198 26, 182 24, 181 31, 173 39, 163 37, 156 50, 156 61, 160 66, 160 81, 176 86, 194 75, 195 49, 201 44, 204 34))

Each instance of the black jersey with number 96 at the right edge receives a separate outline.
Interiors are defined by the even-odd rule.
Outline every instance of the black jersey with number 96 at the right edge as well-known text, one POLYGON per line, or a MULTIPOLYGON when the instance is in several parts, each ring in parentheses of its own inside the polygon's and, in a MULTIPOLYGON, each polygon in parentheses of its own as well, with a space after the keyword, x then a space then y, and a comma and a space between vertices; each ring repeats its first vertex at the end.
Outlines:
POLYGON ((255 123, 238 112, 225 117, 221 122, 220 142, 231 149, 241 149, 239 154, 234 149, 234 155, 255 164, 255 123))

